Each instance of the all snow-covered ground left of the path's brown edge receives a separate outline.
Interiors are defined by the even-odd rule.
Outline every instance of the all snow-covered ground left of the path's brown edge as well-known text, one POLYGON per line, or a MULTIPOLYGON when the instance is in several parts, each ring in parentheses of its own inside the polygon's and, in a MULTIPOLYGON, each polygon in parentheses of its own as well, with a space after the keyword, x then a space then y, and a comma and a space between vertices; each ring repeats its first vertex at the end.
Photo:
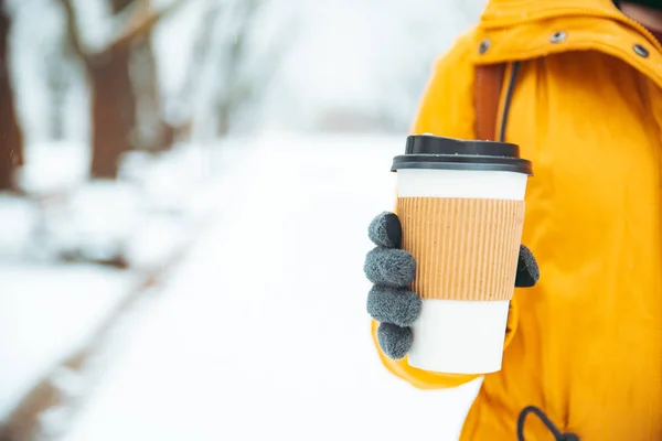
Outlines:
POLYGON ((0 194, 0 421, 199 234, 220 205, 216 185, 233 180, 229 166, 216 166, 239 172, 243 146, 181 146, 158 160, 136 153, 122 181, 105 183, 73 178, 84 166, 75 144, 28 149, 29 158, 62 158, 61 166, 30 162, 21 180, 30 196, 0 194), (56 258, 67 249, 107 255, 116 245, 128 269, 56 258))

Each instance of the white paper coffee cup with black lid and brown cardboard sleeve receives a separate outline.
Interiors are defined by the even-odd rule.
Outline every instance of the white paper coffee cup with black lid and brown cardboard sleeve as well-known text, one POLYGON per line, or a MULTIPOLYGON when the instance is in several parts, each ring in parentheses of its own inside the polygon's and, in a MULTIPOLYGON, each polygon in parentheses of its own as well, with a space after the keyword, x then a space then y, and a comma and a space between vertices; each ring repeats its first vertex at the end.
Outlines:
POLYGON ((501 369, 531 162, 515 144, 428 135, 396 157, 404 249, 423 299, 410 366, 446 374, 501 369))

